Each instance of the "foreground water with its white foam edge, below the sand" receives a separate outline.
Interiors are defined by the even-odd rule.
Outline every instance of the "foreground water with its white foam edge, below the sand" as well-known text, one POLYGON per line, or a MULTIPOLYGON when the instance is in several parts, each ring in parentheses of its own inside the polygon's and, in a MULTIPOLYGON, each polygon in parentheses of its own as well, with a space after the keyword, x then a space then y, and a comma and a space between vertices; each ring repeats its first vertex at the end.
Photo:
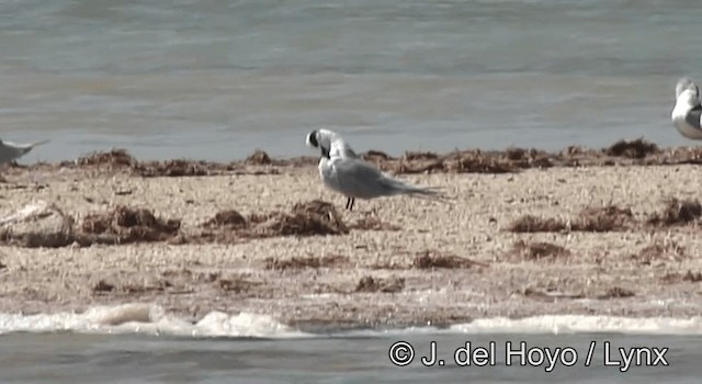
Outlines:
POLYGON ((702 318, 540 316, 302 332, 127 304, 0 315, 2 383, 699 383, 702 318))

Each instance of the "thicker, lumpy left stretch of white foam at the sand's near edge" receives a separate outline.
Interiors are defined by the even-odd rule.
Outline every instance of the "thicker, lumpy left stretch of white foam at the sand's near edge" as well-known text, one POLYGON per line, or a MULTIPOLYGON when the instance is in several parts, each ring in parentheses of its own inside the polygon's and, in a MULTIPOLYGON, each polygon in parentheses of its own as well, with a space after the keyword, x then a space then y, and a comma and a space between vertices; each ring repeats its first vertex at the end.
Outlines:
POLYGON ((76 331, 93 334, 151 334, 193 337, 299 337, 298 332, 265 315, 211 312, 192 324, 150 304, 97 306, 84 313, 0 314, 0 334, 76 331))

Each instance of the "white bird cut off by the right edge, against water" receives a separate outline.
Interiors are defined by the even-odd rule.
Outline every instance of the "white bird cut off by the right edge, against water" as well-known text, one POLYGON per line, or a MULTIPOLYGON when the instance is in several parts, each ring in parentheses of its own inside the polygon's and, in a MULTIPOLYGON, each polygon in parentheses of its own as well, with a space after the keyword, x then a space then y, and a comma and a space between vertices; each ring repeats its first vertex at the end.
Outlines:
POLYGON ((692 79, 683 77, 676 84, 676 106, 670 113, 675 127, 682 136, 691 139, 702 139, 702 105, 700 105, 700 89, 692 79))

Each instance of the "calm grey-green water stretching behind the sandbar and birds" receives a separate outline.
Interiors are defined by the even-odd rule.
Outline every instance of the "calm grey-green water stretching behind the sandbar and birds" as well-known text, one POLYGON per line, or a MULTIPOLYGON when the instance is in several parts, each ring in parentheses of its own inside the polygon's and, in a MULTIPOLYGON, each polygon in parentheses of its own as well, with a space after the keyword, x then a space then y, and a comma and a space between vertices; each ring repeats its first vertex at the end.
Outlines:
POLYGON ((690 144, 669 113, 699 77, 695 0, 0 1, 2 137, 25 161, 690 144))

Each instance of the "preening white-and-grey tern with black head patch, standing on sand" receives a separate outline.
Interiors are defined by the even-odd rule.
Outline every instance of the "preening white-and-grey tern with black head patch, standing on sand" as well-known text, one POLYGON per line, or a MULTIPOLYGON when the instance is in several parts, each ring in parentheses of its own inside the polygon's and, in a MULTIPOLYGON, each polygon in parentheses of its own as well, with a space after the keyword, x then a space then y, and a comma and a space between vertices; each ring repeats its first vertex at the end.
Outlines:
POLYGON ((306 144, 320 149, 319 177, 327 188, 347 196, 346 208, 349 211, 353 210, 355 199, 398 194, 442 197, 431 188, 408 184, 375 168, 356 155, 335 132, 315 129, 307 134, 306 144))

